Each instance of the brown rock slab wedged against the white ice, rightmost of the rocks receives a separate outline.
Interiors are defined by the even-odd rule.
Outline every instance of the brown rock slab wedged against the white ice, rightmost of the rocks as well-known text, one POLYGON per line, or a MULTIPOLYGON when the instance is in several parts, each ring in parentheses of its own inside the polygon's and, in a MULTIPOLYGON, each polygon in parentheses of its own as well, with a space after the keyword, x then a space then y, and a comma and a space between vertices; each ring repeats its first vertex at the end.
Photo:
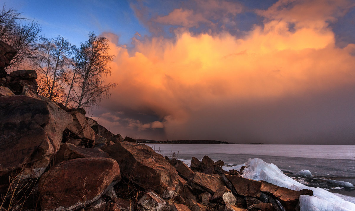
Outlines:
POLYGON ((279 200, 286 210, 297 210, 295 209, 300 200, 300 195, 313 195, 312 190, 303 189, 300 191, 291 190, 288 188, 279 187, 277 185, 261 181, 261 191, 267 195, 272 195, 274 198, 279 200))

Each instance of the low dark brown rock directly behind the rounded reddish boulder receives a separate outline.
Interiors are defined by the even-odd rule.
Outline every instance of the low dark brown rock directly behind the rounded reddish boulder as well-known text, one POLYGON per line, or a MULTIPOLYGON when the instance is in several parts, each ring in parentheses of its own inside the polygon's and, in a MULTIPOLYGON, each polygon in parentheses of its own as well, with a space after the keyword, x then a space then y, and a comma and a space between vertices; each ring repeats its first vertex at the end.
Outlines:
POLYGON ((65 143, 60 146, 54 160, 54 165, 65 161, 82 157, 107 157, 109 154, 99 148, 81 148, 74 144, 65 143))

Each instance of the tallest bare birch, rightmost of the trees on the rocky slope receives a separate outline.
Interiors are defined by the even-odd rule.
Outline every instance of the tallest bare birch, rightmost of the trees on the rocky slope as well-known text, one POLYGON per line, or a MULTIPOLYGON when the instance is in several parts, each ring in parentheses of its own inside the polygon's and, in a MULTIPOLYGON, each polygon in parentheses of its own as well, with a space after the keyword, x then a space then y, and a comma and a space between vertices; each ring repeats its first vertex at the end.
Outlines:
POLYGON ((111 74, 108 63, 114 58, 108 55, 109 44, 105 37, 89 34, 89 39, 80 45, 80 62, 78 62, 78 80, 72 86, 72 102, 76 107, 98 106, 101 99, 110 96, 110 89, 117 83, 105 85, 103 76, 111 74))

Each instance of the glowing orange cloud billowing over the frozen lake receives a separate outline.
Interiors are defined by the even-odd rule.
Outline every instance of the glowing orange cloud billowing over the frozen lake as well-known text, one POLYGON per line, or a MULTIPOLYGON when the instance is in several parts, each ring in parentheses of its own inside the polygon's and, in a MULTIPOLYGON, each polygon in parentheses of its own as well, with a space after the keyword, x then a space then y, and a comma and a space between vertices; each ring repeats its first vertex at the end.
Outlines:
MULTIPOLYGON (((154 113, 160 122, 136 124, 141 124, 140 128, 164 127, 169 139, 191 139, 193 122, 198 137, 207 139, 213 134, 208 129, 207 135, 206 122, 215 121, 218 114, 228 116, 227 111, 220 110, 223 105, 228 105, 227 113, 233 114, 240 112, 233 107, 240 102, 277 103, 354 84, 355 44, 337 48, 335 35, 326 24, 339 13, 334 7, 344 8, 349 2, 297 2, 281 0, 266 11, 258 11, 268 18, 264 27, 255 26, 242 38, 226 32, 217 35, 182 32, 176 34, 175 40, 136 39, 133 54, 126 46, 111 44, 110 54, 116 56, 111 64, 112 79, 119 86, 113 90, 112 98, 103 102, 104 106, 119 105, 154 113), (294 6, 287 8, 285 4, 294 6), (312 13, 314 5, 321 7, 312 13), (294 30, 290 30, 290 21, 296 23, 294 30)), ((177 9, 165 20, 171 18, 174 24, 194 26, 188 21, 190 15, 177 9), (183 18, 177 18, 179 13, 185 14, 183 18)), ((229 117, 228 121, 234 124, 229 117)), ((219 127, 224 127, 223 123, 216 124, 215 130, 219 127)))

